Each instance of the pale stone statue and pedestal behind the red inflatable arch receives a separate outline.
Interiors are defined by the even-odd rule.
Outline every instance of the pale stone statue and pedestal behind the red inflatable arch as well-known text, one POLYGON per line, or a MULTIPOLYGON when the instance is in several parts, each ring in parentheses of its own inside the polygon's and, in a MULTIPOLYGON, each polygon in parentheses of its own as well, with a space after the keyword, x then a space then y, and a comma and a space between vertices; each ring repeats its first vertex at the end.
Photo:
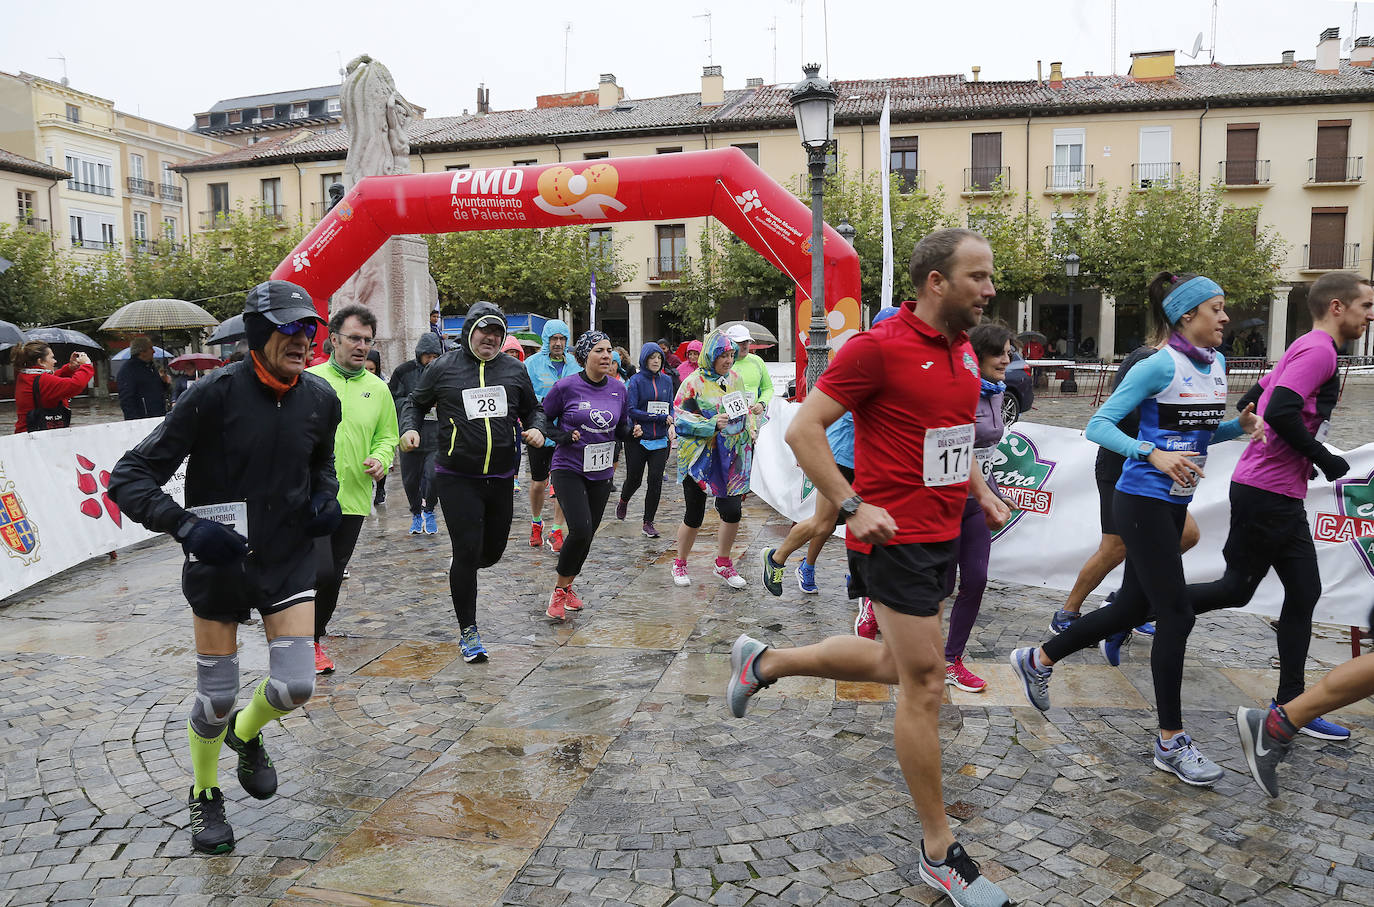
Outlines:
MULTIPOLYGON (((350 60, 345 71, 341 91, 344 125, 349 132, 345 186, 353 187, 367 176, 409 173, 411 142, 405 131, 419 111, 396 89, 390 70, 367 54, 350 60)), ((385 370, 392 371, 411 357, 415 341, 429 330, 429 313, 438 302, 433 287, 425 239, 396 236, 339 287, 331 308, 361 302, 372 309, 375 349, 385 370)))

